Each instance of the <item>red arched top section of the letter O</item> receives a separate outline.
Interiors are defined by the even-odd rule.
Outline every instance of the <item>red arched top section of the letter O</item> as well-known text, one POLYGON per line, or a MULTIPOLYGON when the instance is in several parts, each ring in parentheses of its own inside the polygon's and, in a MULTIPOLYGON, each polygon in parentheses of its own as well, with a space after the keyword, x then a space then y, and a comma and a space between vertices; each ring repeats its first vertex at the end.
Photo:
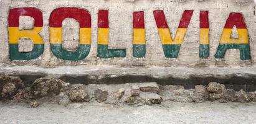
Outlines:
POLYGON ((80 28, 91 27, 91 15, 85 9, 77 7, 60 7, 50 14, 50 27, 62 27, 62 21, 72 18, 79 22, 80 28))

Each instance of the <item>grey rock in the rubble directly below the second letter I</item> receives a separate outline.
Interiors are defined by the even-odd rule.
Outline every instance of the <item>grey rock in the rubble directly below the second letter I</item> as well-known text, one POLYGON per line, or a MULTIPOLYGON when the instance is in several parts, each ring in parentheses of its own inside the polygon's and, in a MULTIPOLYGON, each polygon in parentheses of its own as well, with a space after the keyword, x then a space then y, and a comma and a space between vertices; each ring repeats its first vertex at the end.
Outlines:
POLYGON ((201 103, 206 101, 208 92, 205 86, 198 85, 190 95, 194 102, 201 103))

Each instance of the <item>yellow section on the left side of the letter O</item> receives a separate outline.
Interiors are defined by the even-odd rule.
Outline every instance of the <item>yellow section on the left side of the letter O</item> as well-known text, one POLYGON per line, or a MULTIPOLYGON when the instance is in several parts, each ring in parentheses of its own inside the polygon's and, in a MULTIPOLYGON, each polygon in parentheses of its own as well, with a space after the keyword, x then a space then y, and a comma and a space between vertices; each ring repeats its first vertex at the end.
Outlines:
POLYGON ((50 27, 50 43, 61 44, 62 43, 62 28, 50 27))

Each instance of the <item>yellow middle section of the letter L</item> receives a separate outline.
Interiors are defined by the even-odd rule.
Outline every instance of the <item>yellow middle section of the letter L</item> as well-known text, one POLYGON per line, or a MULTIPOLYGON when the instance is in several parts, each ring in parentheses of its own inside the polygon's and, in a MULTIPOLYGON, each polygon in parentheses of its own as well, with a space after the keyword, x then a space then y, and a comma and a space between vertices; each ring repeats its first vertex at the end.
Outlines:
POLYGON ((108 28, 98 28, 98 44, 108 45, 108 28))

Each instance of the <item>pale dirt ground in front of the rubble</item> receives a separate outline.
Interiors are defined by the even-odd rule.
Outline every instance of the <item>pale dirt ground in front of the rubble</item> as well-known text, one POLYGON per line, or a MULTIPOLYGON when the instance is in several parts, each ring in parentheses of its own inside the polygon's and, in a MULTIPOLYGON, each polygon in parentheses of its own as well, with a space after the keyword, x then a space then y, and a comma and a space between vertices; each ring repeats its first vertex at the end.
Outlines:
POLYGON ((108 104, 0 104, 1 124, 36 123, 256 123, 256 103, 164 102, 140 107, 108 104))

